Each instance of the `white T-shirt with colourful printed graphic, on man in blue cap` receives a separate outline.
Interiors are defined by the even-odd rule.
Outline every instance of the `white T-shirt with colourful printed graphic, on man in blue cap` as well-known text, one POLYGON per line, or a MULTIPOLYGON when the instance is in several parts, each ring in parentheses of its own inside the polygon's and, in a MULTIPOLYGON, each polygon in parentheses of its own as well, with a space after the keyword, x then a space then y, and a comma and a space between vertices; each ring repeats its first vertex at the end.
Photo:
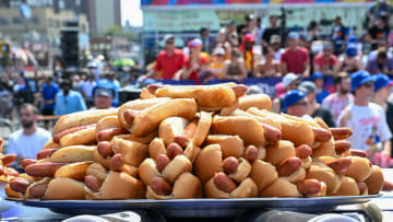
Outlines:
MULTIPOLYGON (((349 104, 352 118, 347 121, 347 126, 353 129, 353 136, 348 139, 352 149, 368 151, 378 151, 382 149, 382 142, 392 137, 385 113, 381 106, 369 103, 368 106, 358 106, 349 104)), ((338 122, 343 115, 340 115, 338 122)))

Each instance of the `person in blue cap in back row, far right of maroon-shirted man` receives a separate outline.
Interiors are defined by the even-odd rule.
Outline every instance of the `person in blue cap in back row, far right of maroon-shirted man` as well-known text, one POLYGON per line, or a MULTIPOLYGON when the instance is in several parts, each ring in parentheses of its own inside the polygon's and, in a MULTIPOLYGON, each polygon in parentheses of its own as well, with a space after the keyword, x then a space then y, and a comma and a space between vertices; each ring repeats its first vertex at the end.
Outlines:
POLYGON ((345 54, 342 55, 338 60, 338 71, 341 72, 347 72, 350 74, 364 69, 361 59, 358 57, 357 47, 354 45, 348 45, 348 47, 345 49, 345 54))

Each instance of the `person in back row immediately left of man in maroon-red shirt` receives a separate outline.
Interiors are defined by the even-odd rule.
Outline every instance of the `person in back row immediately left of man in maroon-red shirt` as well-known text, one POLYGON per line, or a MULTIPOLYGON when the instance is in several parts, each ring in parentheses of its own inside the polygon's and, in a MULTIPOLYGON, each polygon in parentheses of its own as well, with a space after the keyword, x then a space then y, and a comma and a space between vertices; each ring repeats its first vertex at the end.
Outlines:
POLYGON ((263 51, 263 58, 257 67, 255 77, 281 77, 279 60, 274 59, 274 50, 269 47, 263 51))

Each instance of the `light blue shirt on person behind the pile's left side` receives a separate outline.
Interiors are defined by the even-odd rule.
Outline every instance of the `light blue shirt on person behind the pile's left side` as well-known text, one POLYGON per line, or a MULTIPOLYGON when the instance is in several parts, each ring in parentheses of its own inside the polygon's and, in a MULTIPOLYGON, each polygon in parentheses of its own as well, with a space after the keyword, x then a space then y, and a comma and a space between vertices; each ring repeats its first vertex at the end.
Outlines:
POLYGON ((55 115, 66 115, 86 109, 87 107, 81 93, 76 91, 70 90, 67 96, 60 91, 56 95, 55 115))

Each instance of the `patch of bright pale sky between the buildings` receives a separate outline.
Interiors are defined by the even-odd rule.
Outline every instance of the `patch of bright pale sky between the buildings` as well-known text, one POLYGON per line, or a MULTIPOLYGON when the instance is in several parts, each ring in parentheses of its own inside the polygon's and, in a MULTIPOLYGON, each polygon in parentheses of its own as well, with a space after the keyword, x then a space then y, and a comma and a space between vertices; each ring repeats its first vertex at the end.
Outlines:
POLYGON ((130 21, 131 26, 142 26, 141 0, 121 0, 121 24, 130 21))

